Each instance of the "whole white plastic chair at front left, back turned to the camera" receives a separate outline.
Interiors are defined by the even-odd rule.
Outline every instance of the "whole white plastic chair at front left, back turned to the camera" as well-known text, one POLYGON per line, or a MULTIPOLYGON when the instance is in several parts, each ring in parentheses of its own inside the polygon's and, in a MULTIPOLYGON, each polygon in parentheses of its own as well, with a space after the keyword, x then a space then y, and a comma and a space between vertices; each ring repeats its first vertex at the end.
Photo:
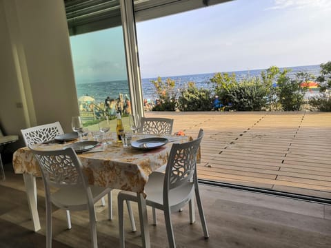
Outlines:
MULTIPOLYGON (((30 149, 39 162, 45 185, 46 247, 52 247, 52 203, 66 210, 88 210, 92 247, 98 247, 94 203, 108 194, 110 205, 112 189, 88 185, 81 162, 71 147, 52 151, 30 149), (50 187, 57 188, 57 191, 50 192, 50 187)), ((111 218, 111 208, 108 209, 108 214, 111 218)))

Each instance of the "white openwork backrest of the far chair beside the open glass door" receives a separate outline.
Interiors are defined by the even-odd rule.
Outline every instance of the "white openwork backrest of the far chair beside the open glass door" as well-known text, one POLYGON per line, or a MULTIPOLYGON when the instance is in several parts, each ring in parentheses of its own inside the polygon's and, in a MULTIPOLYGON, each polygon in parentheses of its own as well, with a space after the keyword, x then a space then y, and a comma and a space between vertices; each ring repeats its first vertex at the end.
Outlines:
POLYGON ((141 117, 140 133, 143 134, 172 134, 174 119, 141 117))

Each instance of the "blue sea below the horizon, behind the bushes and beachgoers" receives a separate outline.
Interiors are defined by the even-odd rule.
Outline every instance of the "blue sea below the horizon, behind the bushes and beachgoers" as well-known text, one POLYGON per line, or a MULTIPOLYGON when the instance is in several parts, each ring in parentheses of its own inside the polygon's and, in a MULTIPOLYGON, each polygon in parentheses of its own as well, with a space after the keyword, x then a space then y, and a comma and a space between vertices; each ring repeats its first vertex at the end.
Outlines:
MULTIPOLYGON (((280 68, 281 71, 285 68, 280 68)), ((320 74, 321 68, 320 65, 305 65, 305 66, 295 66, 286 68, 290 70, 288 76, 294 78, 295 74, 298 72, 306 72, 317 77, 320 74)), ((229 74, 234 73, 236 75, 237 81, 245 78, 246 76, 261 76, 261 72, 266 69, 260 70, 243 70, 243 71, 234 71, 228 72, 229 74)), ((203 74, 192 74, 192 75, 181 75, 181 76, 161 76, 162 80, 172 79, 176 82, 176 90, 179 90, 183 87, 188 86, 188 82, 194 82, 197 87, 205 87, 208 89, 212 88, 210 79, 214 76, 212 73, 203 73, 203 74)), ((143 99, 148 101, 154 101, 157 99, 157 94, 155 94, 154 85, 151 81, 157 80, 157 78, 146 78, 142 79, 142 90, 143 90, 143 99)), ((128 81, 119 80, 119 81, 104 81, 104 82, 91 82, 91 83, 77 83, 77 96, 92 96, 95 99, 95 103, 104 102, 107 96, 110 96, 110 99, 117 99, 119 94, 123 94, 125 97, 130 96, 128 81)), ((308 96, 318 94, 316 90, 308 92, 308 96)))

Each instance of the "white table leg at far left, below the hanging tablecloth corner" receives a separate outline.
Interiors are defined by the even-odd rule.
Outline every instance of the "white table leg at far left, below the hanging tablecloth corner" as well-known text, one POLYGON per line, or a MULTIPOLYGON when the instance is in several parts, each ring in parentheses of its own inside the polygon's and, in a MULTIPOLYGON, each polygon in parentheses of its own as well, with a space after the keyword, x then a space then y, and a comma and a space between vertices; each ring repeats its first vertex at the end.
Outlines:
POLYGON ((39 231, 40 221, 37 209, 37 185, 36 177, 31 174, 23 174, 24 185, 26 186, 26 196, 28 197, 28 205, 30 209, 30 216, 33 223, 34 231, 39 231))

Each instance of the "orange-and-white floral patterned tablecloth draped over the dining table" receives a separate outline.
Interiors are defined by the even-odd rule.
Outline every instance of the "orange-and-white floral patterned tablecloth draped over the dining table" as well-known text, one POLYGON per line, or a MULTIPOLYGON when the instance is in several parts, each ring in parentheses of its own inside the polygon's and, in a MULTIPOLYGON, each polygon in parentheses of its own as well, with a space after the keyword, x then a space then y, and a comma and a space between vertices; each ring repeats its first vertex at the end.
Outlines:
MULTIPOLYGON (((124 148, 121 143, 113 141, 103 152, 79 154, 83 172, 88 176, 90 185, 142 193, 148 175, 167 163, 172 143, 183 143, 191 139, 188 136, 165 136, 165 138, 168 138, 169 143, 158 149, 124 148)), ((68 143, 44 144, 38 145, 37 149, 61 149, 66 145, 68 143)), ((22 147, 14 152, 12 165, 16 174, 41 176, 37 160, 28 147, 22 147)))

